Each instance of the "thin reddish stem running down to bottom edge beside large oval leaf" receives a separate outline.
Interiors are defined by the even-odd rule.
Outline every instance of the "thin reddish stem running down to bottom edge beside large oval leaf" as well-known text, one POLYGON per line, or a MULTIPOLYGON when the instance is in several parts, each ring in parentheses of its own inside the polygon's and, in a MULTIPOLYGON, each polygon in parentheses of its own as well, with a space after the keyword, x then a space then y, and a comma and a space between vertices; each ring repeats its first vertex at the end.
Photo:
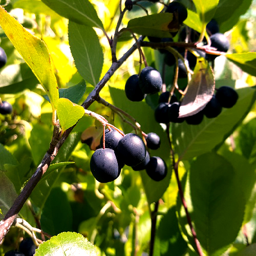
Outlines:
POLYGON ((191 221, 191 217, 190 217, 188 209, 187 209, 186 200, 184 198, 183 189, 182 189, 182 186, 181 186, 181 182, 180 182, 180 178, 179 178, 179 172, 178 172, 179 161, 177 161, 177 162, 175 161, 175 152, 173 150, 172 141, 170 140, 170 136, 169 136, 169 124, 167 124, 166 133, 167 133, 167 138, 168 138, 168 142, 169 142, 169 145, 170 145, 170 155, 172 156, 173 169, 174 169, 174 172, 175 172, 175 177, 176 177, 176 181, 177 181, 178 188, 179 188, 179 195, 180 195, 180 199, 181 199, 182 205, 183 205, 183 207, 185 209, 187 223, 188 223, 188 225, 190 227, 190 230, 191 230, 194 242, 196 244, 196 248, 197 248, 198 254, 200 256, 203 256, 204 254, 203 254, 200 242, 197 239, 197 233, 196 233, 196 230, 193 227, 193 224, 192 224, 192 221, 191 221))

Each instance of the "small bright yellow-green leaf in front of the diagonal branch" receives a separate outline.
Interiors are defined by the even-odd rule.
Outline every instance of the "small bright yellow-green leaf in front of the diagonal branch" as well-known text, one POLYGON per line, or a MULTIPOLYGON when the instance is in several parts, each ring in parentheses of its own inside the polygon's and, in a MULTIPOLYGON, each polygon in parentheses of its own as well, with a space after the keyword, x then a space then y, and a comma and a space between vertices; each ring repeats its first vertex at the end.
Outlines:
POLYGON ((69 99, 60 98, 58 100, 57 115, 63 131, 76 124, 83 114, 84 109, 82 106, 75 105, 69 99))

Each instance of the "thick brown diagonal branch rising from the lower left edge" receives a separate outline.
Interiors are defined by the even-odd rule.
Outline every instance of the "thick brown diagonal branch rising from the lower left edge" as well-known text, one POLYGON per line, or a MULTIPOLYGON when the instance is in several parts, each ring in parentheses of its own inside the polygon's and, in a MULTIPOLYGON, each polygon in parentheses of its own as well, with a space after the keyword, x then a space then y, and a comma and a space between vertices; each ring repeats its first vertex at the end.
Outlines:
MULTIPOLYGON (((141 44, 142 38, 138 39, 141 44)), ((103 78, 98 82, 94 90, 89 94, 87 99, 82 103, 84 109, 88 109, 89 106, 96 100, 99 95, 99 92, 104 87, 106 82, 112 77, 112 75, 116 72, 117 69, 123 64, 123 62, 131 56, 131 54, 137 49, 137 44, 134 44, 119 60, 113 62, 109 71, 103 76, 103 78)), ((59 135, 59 128, 54 126, 53 137, 50 143, 49 150, 46 152, 44 158, 41 163, 38 165, 35 173, 32 175, 30 180, 24 186, 23 190, 20 192, 13 205, 7 212, 5 218, 0 222, 0 244, 2 243, 4 237, 9 231, 13 221, 15 220, 18 212, 22 209, 23 205, 31 195, 33 189, 40 181, 41 177, 45 174, 51 162, 59 152, 60 147, 66 141, 71 131, 74 129, 75 125, 66 130, 62 137, 59 135)))

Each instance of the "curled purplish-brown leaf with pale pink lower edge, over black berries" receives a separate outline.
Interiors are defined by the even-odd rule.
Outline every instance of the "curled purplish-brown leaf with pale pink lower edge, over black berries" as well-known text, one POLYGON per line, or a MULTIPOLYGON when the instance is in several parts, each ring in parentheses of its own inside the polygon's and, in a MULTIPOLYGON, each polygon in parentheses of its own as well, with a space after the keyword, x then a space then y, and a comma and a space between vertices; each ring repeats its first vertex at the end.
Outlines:
POLYGON ((204 58, 198 58, 187 92, 181 101, 179 117, 192 116, 203 110, 214 95, 214 90, 214 73, 204 58))

